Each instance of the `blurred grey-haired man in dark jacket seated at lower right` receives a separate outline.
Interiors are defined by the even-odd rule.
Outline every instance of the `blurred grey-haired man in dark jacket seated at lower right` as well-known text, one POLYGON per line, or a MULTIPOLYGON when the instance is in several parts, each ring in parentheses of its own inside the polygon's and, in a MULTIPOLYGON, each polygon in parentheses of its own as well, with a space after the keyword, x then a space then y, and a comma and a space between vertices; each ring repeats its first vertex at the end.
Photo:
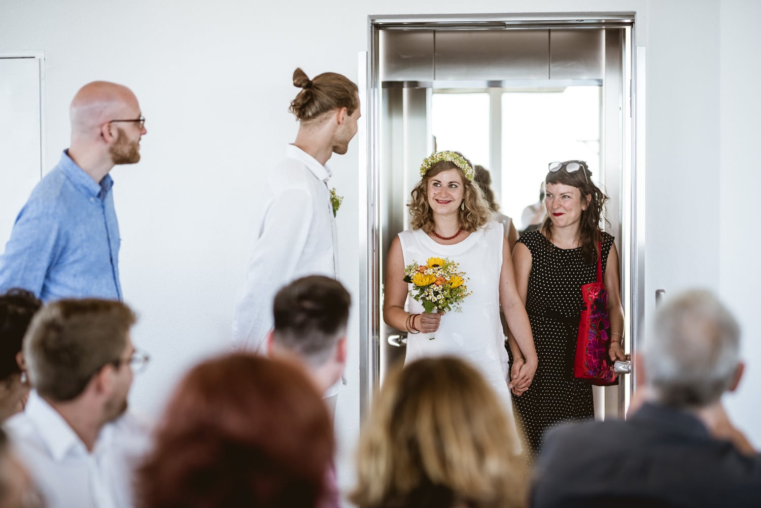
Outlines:
POLYGON ((759 506, 761 455, 720 401, 743 372, 727 308, 703 291, 667 302, 636 369, 645 402, 629 420, 549 433, 531 506, 759 506))

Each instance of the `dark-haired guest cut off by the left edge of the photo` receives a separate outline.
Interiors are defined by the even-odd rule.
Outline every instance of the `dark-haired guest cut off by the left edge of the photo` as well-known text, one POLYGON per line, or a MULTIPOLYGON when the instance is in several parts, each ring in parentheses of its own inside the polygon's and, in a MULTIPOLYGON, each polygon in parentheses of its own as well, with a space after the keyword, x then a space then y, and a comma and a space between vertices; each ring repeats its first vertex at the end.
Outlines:
POLYGON ((29 397, 21 343, 42 302, 24 289, 0 295, 0 422, 24 410, 29 397))

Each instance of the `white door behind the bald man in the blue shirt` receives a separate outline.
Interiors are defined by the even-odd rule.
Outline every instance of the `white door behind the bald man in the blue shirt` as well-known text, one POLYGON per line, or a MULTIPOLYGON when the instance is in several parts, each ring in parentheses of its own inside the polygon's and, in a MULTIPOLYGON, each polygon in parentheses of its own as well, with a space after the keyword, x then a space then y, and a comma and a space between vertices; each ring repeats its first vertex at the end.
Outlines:
POLYGON ((0 56, 0 251, 42 176, 42 58, 0 56))

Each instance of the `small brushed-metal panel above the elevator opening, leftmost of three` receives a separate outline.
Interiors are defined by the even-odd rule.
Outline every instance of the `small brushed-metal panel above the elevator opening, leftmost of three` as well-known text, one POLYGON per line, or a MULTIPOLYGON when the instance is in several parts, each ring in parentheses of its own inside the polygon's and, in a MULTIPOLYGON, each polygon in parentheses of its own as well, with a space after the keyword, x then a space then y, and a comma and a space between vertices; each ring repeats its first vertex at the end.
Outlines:
POLYGON ((433 30, 380 30, 380 81, 434 78, 433 30))

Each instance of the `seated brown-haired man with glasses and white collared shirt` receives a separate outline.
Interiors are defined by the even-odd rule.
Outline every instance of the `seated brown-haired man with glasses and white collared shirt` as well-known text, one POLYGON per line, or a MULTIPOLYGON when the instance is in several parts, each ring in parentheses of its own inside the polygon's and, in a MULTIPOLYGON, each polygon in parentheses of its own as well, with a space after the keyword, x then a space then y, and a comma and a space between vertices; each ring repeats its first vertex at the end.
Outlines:
POLYGON ((48 508, 134 506, 132 472, 150 433, 127 411, 132 377, 148 362, 132 346, 134 323, 122 302, 64 299, 24 336, 34 390, 6 430, 48 508))

